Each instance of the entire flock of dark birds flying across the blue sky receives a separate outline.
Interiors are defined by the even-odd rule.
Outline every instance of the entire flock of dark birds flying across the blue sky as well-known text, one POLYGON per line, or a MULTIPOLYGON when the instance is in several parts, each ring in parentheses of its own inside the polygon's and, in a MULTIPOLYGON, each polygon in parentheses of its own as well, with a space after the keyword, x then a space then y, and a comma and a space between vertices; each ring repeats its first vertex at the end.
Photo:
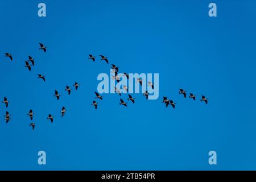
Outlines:
MULTIPOLYGON (((39 45, 40 45, 40 48, 39 48, 39 49, 42 49, 44 52, 46 52, 47 47, 44 46, 44 44, 42 44, 42 43, 39 43, 39 45)), ((9 57, 10 60, 13 61, 13 56, 12 56, 10 53, 5 53, 5 56, 6 56, 6 57, 9 57)), ((100 57, 101 57, 101 60, 103 60, 103 61, 105 61, 107 64, 109 64, 108 57, 103 56, 103 55, 100 55, 100 57)), ((96 57, 93 56, 93 55, 89 55, 88 59, 91 59, 91 60, 93 60, 93 61, 96 61, 96 57)), ((28 60, 25 61, 25 66, 24 66, 24 67, 28 68, 28 70, 31 71, 31 68, 32 68, 34 65, 35 65, 35 59, 33 59, 32 56, 28 56, 28 60), (31 63, 31 64, 30 64, 30 63, 31 63)), ((114 64, 111 64, 111 66, 112 66, 111 68, 113 69, 113 71, 114 71, 114 73, 115 73, 115 76, 113 76, 113 79, 114 79, 115 81, 119 82, 119 81, 120 81, 120 77, 118 76, 118 71, 119 71, 119 69, 118 69, 118 67, 117 67, 116 65, 114 65, 114 64)), ((127 79, 129 79, 129 74, 123 73, 123 75, 126 76, 127 79)), ((41 75, 41 74, 38 74, 38 78, 42 79, 43 81, 46 81, 46 78, 45 78, 43 75, 41 75)), ((137 78, 137 82, 139 82, 139 84, 142 86, 142 78, 137 78)), ((75 82, 75 84, 74 84, 73 86, 75 87, 75 90, 77 90, 77 89, 79 88, 80 84, 79 84, 78 82, 75 82)), ((150 82, 150 81, 148 81, 148 86, 150 86, 152 89, 154 89, 154 84, 153 84, 152 82, 150 82)), ((127 87, 126 85, 123 85, 123 89, 125 89, 126 92, 128 92, 128 87, 127 87)), ((71 94, 71 90, 72 90, 71 87, 66 86, 65 91, 68 92, 68 95, 71 94)), ((114 87, 114 90, 115 90, 115 93, 117 93, 117 94, 119 94, 119 96, 121 96, 121 92, 120 92, 120 90, 119 90, 118 88, 115 88, 115 87, 114 87)), ((99 93, 97 93, 97 92, 94 92, 94 93, 96 94, 96 99, 97 99, 97 98, 100 99, 100 100, 103 99, 103 97, 102 97, 99 93)), ((184 89, 179 89, 179 94, 183 94, 184 98, 187 97, 187 91, 184 90, 184 89)), ((149 95, 149 93, 148 93, 147 91, 145 91, 145 92, 143 93, 143 96, 145 96, 146 99, 148 99, 148 95, 149 95)), ((55 94, 54 94, 53 96, 56 97, 57 100, 59 100, 60 97, 61 97, 61 95, 59 94, 59 92, 58 92, 57 90, 55 90, 55 94)), ((129 97, 129 98, 127 98, 127 100, 128 100, 128 101, 131 101, 131 102, 133 102, 133 104, 135 104, 135 99, 136 99, 136 98, 133 97, 133 96, 131 96, 131 94, 128 94, 128 97, 129 97)), ((195 96, 193 93, 189 93, 189 98, 192 98, 193 100, 196 100, 196 96, 195 96)), ((205 96, 201 96, 201 100, 200 100, 200 101, 204 101, 205 104, 208 104, 208 98, 206 98, 205 96)), ((8 107, 9 101, 8 101, 7 97, 4 97, 4 98, 3 98, 2 103, 6 105, 6 108, 8 107)), ((171 105, 173 108, 175 108, 175 104, 176 104, 174 101, 168 100, 168 98, 165 97, 165 96, 163 97, 162 103, 165 103, 165 104, 166 104, 166 107, 168 107, 168 105, 171 105)), ((98 103, 97 103, 95 100, 93 100, 92 105, 95 107, 95 109, 97 109, 98 103)), ((123 105, 123 106, 126 106, 126 107, 127 107, 127 102, 123 101, 122 98, 120 98, 120 103, 119 103, 119 105, 123 105)), ((64 116, 64 114, 65 114, 66 111, 67 111, 67 109, 65 109, 65 107, 63 106, 62 109, 61 109, 61 111, 60 111, 61 117, 64 116)), ((33 115, 34 115, 34 114, 35 114, 35 113, 33 112, 32 109, 31 109, 31 110, 28 112, 28 114, 27 114, 27 115, 30 117, 31 121, 33 120, 33 115)), ((53 122, 53 118, 54 118, 54 116, 53 116, 52 114, 48 114, 47 119, 49 119, 49 120, 51 121, 51 123, 53 122)), ((11 115, 9 114, 8 111, 6 111, 6 114, 5 114, 5 121, 6 121, 6 123, 8 123, 8 122, 10 121, 10 119, 11 119, 11 115)), ((35 123, 34 123, 34 122, 31 122, 29 126, 32 127, 32 130, 35 129, 35 123)))

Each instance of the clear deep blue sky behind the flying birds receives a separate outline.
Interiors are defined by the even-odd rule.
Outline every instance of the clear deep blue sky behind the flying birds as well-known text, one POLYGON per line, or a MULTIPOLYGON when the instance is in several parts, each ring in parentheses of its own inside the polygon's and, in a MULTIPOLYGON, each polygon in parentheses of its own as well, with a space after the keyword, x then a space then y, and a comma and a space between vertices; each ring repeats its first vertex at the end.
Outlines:
POLYGON ((212 1, 45 0, 46 18, 40 2, 0 2, 0 97, 12 114, 6 125, 0 105, 0 169, 256 169, 255 1, 214 1, 217 18, 208 16, 212 1), (125 108, 117 94, 105 94, 95 110, 97 75, 110 65, 88 54, 108 56, 120 72, 159 73, 159 99, 138 94, 125 108), (31 72, 27 55, 36 59, 31 72), (65 85, 75 81, 81 86, 68 96, 65 85), (166 109, 163 96, 176 108, 166 109), (38 165, 40 150, 46 166, 38 165), (211 150, 217 166, 208 164, 211 150))

